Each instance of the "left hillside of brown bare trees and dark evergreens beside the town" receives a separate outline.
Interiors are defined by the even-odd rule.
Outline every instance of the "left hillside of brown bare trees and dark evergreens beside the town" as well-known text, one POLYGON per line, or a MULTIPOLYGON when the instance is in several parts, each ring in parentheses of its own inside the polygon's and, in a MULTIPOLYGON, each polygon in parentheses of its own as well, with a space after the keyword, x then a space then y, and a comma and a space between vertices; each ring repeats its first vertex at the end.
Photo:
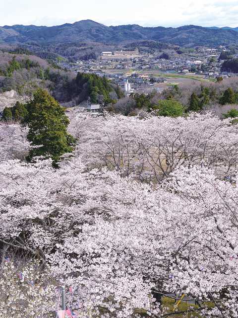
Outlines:
POLYGON ((13 89, 31 96, 38 87, 47 88, 58 101, 69 104, 88 97, 94 103, 116 101, 120 91, 106 78, 65 72, 37 56, 0 52, 0 92, 13 89))

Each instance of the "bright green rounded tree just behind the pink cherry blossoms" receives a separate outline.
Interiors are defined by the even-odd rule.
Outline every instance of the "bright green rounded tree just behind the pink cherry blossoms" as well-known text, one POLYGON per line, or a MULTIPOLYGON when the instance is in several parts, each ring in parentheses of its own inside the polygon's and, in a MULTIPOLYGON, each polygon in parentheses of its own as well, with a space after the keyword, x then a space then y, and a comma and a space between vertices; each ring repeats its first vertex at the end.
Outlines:
POLYGON ((157 110, 158 116, 179 117, 184 114, 183 106, 174 99, 160 100, 157 105, 153 105, 154 110, 157 110))

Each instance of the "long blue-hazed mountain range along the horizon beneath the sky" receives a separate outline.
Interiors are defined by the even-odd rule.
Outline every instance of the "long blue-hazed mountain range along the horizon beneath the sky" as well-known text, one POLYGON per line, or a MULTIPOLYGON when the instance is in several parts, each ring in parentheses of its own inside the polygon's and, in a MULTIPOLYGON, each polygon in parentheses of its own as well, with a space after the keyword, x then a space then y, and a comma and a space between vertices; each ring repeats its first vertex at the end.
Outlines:
POLYGON ((186 25, 178 28, 142 27, 136 24, 106 26, 82 20, 59 26, 5 25, 0 27, 1 44, 49 45, 76 42, 119 44, 153 40, 179 46, 217 46, 238 44, 238 28, 206 28, 186 25))

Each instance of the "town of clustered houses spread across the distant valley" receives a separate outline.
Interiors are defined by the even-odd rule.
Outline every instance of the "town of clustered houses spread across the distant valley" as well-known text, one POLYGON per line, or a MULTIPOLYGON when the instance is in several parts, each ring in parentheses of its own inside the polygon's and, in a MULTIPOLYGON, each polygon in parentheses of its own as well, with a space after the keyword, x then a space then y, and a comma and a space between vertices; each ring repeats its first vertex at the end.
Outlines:
POLYGON ((219 59, 219 56, 222 50, 225 51, 226 48, 222 46, 219 48, 198 47, 196 49, 182 49, 180 52, 179 50, 167 50, 167 59, 162 58, 158 51, 154 54, 142 54, 138 49, 108 51, 102 52, 97 60, 77 61, 68 64, 63 62, 64 65, 61 67, 73 72, 94 73, 100 77, 106 76, 119 84, 125 94, 130 94, 140 90, 144 85, 156 88, 155 82, 165 81, 165 79, 158 77, 150 81, 147 75, 143 75, 142 71, 144 70, 151 71, 151 73, 200 74, 204 78, 217 78, 220 75, 223 77, 236 76, 227 73, 221 74, 223 61, 219 59))

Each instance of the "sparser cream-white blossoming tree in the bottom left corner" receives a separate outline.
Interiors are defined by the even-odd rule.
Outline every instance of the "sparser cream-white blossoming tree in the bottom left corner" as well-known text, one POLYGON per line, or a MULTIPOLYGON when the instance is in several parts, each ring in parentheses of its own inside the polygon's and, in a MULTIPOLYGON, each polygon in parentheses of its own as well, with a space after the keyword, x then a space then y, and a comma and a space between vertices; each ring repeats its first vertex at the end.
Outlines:
POLYGON ((16 266, 5 260, 0 271, 0 317, 55 317, 55 290, 37 262, 16 266))

